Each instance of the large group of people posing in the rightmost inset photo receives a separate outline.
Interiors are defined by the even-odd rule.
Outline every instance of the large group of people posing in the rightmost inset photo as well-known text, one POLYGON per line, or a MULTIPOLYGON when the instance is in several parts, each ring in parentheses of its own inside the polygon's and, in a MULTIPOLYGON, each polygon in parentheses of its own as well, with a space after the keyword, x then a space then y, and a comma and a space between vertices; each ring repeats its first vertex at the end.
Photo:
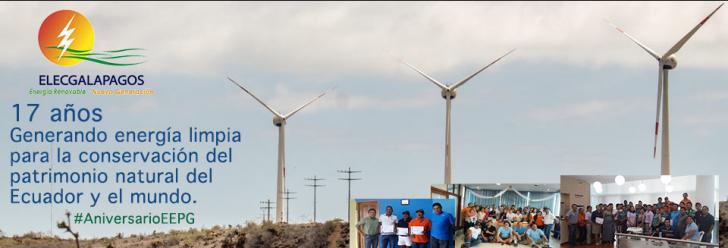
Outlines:
POLYGON ((595 209, 572 205, 564 215, 569 227, 569 244, 612 243, 615 233, 633 233, 696 242, 711 242, 715 217, 708 206, 693 205, 687 193, 672 202, 657 198, 654 204, 642 201, 599 204, 595 209), (695 208, 693 208, 695 206, 695 208), (702 236, 701 236, 702 235, 702 236))

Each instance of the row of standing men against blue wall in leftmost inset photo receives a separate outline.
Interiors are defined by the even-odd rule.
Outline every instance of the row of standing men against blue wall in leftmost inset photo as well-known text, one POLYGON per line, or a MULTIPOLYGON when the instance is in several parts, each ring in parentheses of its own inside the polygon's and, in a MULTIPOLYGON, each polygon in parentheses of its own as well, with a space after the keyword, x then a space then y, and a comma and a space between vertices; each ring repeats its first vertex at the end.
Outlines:
POLYGON ((365 248, 448 248, 453 241, 455 217, 442 211, 440 203, 432 204, 432 215, 425 217, 425 211, 415 211, 415 218, 409 211, 402 212, 402 218, 394 215, 392 206, 377 217, 376 209, 369 209, 368 216, 361 219, 356 227, 364 236, 365 248))

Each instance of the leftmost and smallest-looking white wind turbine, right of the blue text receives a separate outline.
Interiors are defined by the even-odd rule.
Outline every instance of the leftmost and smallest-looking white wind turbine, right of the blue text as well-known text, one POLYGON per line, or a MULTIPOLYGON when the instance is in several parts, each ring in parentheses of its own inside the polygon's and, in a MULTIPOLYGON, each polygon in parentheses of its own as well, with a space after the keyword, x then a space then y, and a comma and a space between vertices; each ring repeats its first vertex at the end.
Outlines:
POLYGON ((286 183, 286 135, 285 135, 285 126, 286 122, 289 118, 291 118, 293 115, 298 113, 298 111, 301 111, 306 106, 310 105, 311 103, 315 102, 319 98, 326 95, 326 92, 321 93, 320 95, 312 98, 308 102, 304 103, 300 107, 296 108, 295 110, 291 111, 290 113, 283 115, 279 113, 278 111, 274 110, 268 104, 265 104, 260 98, 255 96, 253 92, 249 91, 243 85, 239 84, 238 82, 235 82, 232 78, 228 77, 228 80, 230 82, 237 85, 240 89, 245 91, 245 93, 248 93, 248 95, 252 96, 256 101, 258 101, 263 107, 268 109, 271 113, 273 113, 273 125, 276 125, 278 127, 278 177, 276 179, 276 222, 282 222, 283 221, 283 194, 285 190, 285 183, 286 183))

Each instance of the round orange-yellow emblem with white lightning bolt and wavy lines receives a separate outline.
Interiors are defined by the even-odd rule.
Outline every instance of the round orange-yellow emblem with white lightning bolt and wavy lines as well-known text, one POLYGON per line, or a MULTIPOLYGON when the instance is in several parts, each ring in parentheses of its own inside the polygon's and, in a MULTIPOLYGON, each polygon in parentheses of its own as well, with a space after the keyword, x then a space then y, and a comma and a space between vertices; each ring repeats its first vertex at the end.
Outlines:
POLYGON ((94 51, 94 29, 91 23, 73 10, 59 10, 48 15, 38 30, 38 46, 48 61, 72 66, 89 61, 110 66, 144 63, 142 48, 94 51))

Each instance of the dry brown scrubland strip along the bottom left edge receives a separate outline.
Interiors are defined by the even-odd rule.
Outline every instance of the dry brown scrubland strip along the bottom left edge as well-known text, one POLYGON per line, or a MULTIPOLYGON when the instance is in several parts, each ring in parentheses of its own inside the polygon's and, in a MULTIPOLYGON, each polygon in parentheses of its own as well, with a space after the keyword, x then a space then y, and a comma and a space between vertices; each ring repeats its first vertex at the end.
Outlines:
MULTIPOLYGON (((83 233, 81 233, 83 236, 83 233)), ((215 226, 211 229, 189 229, 149 235, 119 234, 111 238, 81 240, 81 247, 321 247, 349 246, 348 224, 340 220, 318 224, 249 223, 247 226, 215 226)), ((48 237, 39 233, 0 237, 0 247, 75 248, 75 241, 48 237)))

